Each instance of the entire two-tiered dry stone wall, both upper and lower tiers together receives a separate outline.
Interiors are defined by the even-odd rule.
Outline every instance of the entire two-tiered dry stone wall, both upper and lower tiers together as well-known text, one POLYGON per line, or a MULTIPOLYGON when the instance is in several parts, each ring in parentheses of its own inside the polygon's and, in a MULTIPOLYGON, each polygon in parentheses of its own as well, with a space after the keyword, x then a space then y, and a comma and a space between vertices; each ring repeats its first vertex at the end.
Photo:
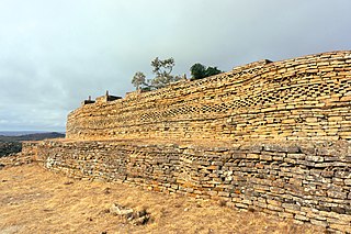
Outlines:
POLYGON ((23 151, 75 178, 219 199, 351 233, 351 52, 87 100, 68 115, 66 136, 23 151))

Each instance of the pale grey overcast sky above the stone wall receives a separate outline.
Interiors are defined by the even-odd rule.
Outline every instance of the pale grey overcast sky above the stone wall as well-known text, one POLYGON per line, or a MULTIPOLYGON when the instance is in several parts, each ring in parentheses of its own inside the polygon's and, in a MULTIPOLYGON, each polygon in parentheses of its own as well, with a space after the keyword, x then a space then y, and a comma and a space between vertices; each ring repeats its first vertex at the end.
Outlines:
POLYGON ((88 96, 132 91, 150 60, 230 70, 351 49, 350 0, 0 0, 0 131, 65 131, 88 96))

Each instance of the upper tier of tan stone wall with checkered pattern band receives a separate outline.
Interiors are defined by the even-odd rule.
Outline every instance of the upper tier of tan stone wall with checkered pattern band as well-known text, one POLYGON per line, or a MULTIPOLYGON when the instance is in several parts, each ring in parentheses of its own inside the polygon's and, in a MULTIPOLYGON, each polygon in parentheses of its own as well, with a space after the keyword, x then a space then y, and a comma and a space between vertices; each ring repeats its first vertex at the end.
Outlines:
POLYGON ((351 52, 261 60, 196 81, 86 104, 68 138, 351 138, 351 52))

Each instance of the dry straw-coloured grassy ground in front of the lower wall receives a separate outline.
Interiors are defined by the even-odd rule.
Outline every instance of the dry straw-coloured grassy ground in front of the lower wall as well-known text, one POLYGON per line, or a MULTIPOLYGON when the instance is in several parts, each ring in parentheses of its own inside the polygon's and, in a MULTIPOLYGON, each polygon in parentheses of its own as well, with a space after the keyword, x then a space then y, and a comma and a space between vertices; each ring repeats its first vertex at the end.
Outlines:
POLYGON ((217 202, 126 185, 72 180, 37 165, 0 169, 0 234, 11 233, 324 233, 217 202), (134 225, 109 209, 117 203, 150 219, 134 225))

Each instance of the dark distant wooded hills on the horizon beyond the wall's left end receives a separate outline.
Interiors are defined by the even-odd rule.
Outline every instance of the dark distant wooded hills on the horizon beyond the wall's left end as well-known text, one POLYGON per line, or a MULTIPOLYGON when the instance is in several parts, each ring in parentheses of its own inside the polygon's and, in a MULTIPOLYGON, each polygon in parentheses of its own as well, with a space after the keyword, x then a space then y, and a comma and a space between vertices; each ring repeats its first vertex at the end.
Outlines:
POLYGON ((23 141, 42 141, 45 138, 63 138, 65 134, 52 133, 33 133, 19 136, 4 136, 0 135, 0 157, 15 154, 22 151, 23 141))

